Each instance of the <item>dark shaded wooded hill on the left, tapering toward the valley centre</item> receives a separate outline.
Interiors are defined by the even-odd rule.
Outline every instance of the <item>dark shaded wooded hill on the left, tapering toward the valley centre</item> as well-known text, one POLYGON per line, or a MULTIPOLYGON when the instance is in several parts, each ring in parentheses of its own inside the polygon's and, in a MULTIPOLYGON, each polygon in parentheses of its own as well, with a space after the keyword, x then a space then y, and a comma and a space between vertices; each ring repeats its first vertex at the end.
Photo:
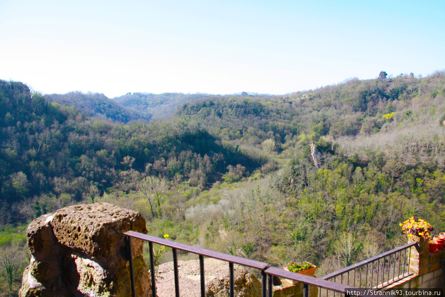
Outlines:
POLYGON ((91 120, 18 82, 0 81, 0 110, 0 223, 26 219, 20 204, 42 213, 47 197, 80 201, 90 187, 128 193, 151 175, 204 188, 228 165, 259 165, 196 125, 91 120))

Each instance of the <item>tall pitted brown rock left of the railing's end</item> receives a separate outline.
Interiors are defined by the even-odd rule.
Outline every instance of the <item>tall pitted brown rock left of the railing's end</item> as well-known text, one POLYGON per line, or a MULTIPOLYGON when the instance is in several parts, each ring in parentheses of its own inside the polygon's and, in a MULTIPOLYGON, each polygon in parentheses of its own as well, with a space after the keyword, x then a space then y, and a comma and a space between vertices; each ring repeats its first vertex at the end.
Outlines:
MULTIPOLYGON (((129 230, 146 233, 145 219, 108 203, 68 206, 35 219, 19 296, 131 296, 123 235, 129 230)), ((136 295, 151 296, 143 242, 133 240, 132 247, 136 295)))

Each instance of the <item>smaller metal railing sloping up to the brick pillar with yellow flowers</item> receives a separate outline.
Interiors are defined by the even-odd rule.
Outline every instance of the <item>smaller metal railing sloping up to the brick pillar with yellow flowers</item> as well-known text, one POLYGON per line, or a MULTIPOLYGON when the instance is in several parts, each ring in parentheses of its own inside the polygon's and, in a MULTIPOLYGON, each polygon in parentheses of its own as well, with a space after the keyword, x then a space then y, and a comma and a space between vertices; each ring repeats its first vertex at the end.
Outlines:
POLYGON ((413 242, 391 249, 372 258, 322 276, 320 279, 333 280, 336 283, 350 285, 356 288, 385 288, 414 274, 409 272, 411 247, 414 246, 417 246, 417 243, 413 242))

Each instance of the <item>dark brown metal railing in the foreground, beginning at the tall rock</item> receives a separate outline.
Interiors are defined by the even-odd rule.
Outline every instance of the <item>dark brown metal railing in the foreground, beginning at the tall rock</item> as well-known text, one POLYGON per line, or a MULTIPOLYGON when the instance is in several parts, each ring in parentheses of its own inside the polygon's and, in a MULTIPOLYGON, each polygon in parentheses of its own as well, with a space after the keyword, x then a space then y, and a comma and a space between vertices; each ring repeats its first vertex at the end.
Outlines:
POLYGON ((199 255, 199 266, 200 266, 200 290, 201 297, 206 296, 205 292, 205 278, 204 278, 204 256, 223 260, 229 264, 229 296, 234 297, 234 280, 233 280, 233 264, 238 264, 242 266, 247 266, 255 268, 261 271, 261 288, 262 297, 272 297, 273 290, 273 277, 285 278, 292 281, 297 281, 303 283, 303 296, 309 297, 309 286, 314 286, 317 288, 323 288, 328 291, 333 291, 341 294, 345 294, 346 289, 355 289, 349 285, 339 284, 332 281, 319 279, 299 273, 289 272, 284 269, 278 269, 275 267, 270 267, 268 263, 250 260, 242 257, 237 257, 234 255, 225 254, 218 251, 213 251, 200 247, 193 247, 174 241, 137 233, 134 231, 128 231, 124 233, 125 243, 126 243, 126 253, 128 260, 130 261, 130 277, 132 286, 132 296, 136 297, 135 284, 134 284, 134 268, 133 268, 133 255, 132 255, 132 238, 140 239, 148 242, 149 253, 150 253, 150 273, 151 273, 151 290, 152 295, 156 296, 156 276, 155 276, 155 265, 154 265, 154 251, 153 244, 162 245, 165 247, 171 247, 173 251, 173 267, 175 275, 175 296, 179 297, 179 274, 178 274, 178 256, 177 250, 183 250, 186 252, 191 252, 199 255))

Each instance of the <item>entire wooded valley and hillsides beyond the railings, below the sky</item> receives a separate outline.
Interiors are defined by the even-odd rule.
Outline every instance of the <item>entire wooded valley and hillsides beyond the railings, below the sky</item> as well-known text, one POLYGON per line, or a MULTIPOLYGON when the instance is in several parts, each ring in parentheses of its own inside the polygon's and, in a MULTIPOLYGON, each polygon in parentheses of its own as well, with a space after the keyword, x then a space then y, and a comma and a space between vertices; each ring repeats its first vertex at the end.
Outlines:
POLYGON ((152 235, 276 266, 310 260, 319 275, 400 246, 407 217, 445 231, 444 90, 437 72, 285 96, 176 94, 176 112, 154 120, 146 107, 173 108, 165 99, 175 96, 127 94, 119 104, 147 113, 116 103, 111 116, 73 101, 111 100, 103 95, 60 104, 0 81, 0 248, 17 262, 9 290, 26 224, 75 203, 131 208, 152 235))

